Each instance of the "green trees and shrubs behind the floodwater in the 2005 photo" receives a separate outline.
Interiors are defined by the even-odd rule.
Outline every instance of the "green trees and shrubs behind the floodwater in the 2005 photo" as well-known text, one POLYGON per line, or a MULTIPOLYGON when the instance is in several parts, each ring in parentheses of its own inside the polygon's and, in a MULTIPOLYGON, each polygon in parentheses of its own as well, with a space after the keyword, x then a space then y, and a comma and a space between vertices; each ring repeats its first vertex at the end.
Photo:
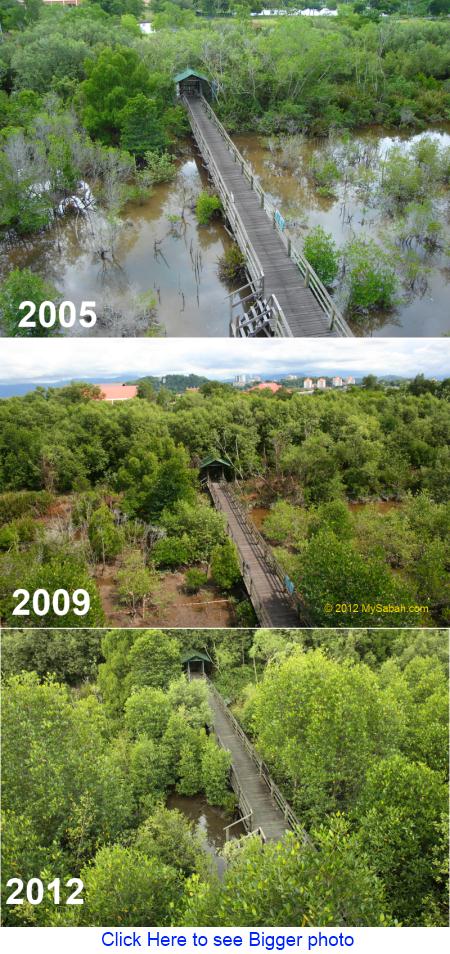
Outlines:
POLYGON ((34 0, 7 5, 0 230, 10 238, 50 224, 80 181, 95 184, 117 214, 127 197, 167 177, 166 152, 188 131, 173 85, 186 63, 216 84, 231 131, 317 136, 371 123, 423 128, 450 115, 445 21, 374 23, 349 13, 256 29, 248 19, 217 23, 181 10, 191 16, 186 27, 143 36, 133 16, 140 9, 136 0, 92 0, 36 18, 34 0))

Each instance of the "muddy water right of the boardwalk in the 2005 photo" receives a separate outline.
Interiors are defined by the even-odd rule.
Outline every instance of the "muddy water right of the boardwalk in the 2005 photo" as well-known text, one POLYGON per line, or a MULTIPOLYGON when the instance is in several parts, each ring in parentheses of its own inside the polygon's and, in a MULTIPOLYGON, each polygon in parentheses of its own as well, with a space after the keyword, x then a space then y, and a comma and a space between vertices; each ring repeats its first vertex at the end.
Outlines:
MULTIPOLYGON (((391 136, 378 129, 352 135, 352 140, 370 145, 382 159, 392 146, 403 142, 407 148, 409 143, 423 135, 432 135, 442 145, 450 145, 450 132, 435 130, 416 136, 391 136)), ((365 207, 356 190, 349 185, 346 187, 342 182, 334 187, 335 195, 332 198, 321 196, 304 174, 313 153, 321 155, 325 152, 328 145, 326 141, 308 140, 299 146, 295 175, 291 171, 292 164, 289 168, 282 168, 280 153, 273 149, 273 144, 269 148, 270 139, 251 134, 234 136, 234 141, 251 162, 272 201, 283 213, 300 247, 309 229, 316 225, 321 225, 331 233, 339 247, 362 233, 383 243, 389 220, 380 208, 365 207)), ((441 199, 438 211, 440 220, 448 224, 448 201, 441 199)), ((377 316, 375 327, 370 329, 371 334, 421 337, 440 335, 450 330, 450 260, 443 252, 423 254, 422 257, 427 270, 424 294, 402 301, 395 312, 377 316)), ((369 333, 368 329, 353 330, 356 334, 369 333)))

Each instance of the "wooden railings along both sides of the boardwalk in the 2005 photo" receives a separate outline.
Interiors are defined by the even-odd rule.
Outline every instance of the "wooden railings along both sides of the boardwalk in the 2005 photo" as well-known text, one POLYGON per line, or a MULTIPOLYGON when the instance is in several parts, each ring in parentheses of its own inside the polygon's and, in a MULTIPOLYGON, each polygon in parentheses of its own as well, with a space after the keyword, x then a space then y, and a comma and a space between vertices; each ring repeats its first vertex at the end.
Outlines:
MULTIPOLYGON (((201 100, 202 105, 204 109, 206 110, 208 118, 214 124, 214 126, 216 127, 220 135, 222 136, 222 139, 226 143, 229 152, 232 154, 234 158, 234 161, 239 164, 242 175, 245 176, 247 181, 250 183, 251 189, 259 196, 261 208, 264 209, 270 221, 272 222, 273 228, 277 231, 280 237, 280 240, 286 249, 286 254, 288 255, 288 258, 290 258, 291 261, 293 261, 295 265, 297 265, 298 269, 300 270, 304 279, 305 287, 311 290, 316 301, 319 303, 322 311, 329 318, 330 320, 329 331, 332 331, 335 334, 340 335, 341 337, 352 338, 353 332, 351 331, 350 327, 348 326, 347 322, 342 316, 339 308, 336 305, 336 302, 333 301, 333 299, 327 292, 325 285, 323 284, 323 282, 321 282, 319 276, 311 267, 308 260, 305 258, 302 252, 300 252, 300 250, 295 247, 295 245, 292 243, 292 240, 285 234, 284 229, 281 226, 279 211, 276 208, 276 206, 273 204, 273 202, 271 202, 266 192, 262 188, 258 180, 258 177, 255 176, 255 173, 253 172, 253 169, 250 163, 247 162, 247 160, 244 159, 243 155, 239 152, 239 149, 237 148, 237 146, 235 146, 233 140, 228 135, 225 127, 220 122, 220 119, 217 118, 214 110, 211 108, 211 106, 209 105, 207 100, 204 98, 204 96, 200 96, 199 99, 201 100)), ((192 113, 192 110, 190 109, 189 99, 185 98, 184 102, 189 110, 190 122, 192 125, 195 138, 197 139, 197 142, 200 146, 201 151, 206 152, 208 157, 208 164, 211 163, 212 178, 214 179, 214 182, 217 188, 219 189, 219 191, 224 190, 225 192, 228 193, 228 207, 224 205, 224 208, 226 210, 227 217, 231 225, 233 226, 233 219, 232 219, 232 216, 230 215, 231 206, 229 201, 231 198, 231 195, 226 189, 225 183, 223 182, 222 176, 217 168, 217 164, 214 162, 214 158, 212 156, 211 150, 209 149, 206 143, 205 137, 203 136, 199 128, 199 125, 192 113)), ((232 202, 232 205, 234 206, 234 202, 232 202)), ((234 231, 234 226, 233 226, 233 231, 234 231)), ((235 234, 237 237, 237 233, 235 234)), ((248 242, 248 236, 247 236, 247 242, 248 242)), ((241 241, 239 241, 239 239, 238 239, 238 244, 242 252, 246 255, 247 253, 242 247, 241 241)), ((250 261, 249 261, 249 264, 250 264, 250 261)), ((250 267, 249 267, 249 271, 250 271, 250 274, 252 275, 250 267)), ((261 269, 261 272, 262 272, 262 287, 264 288, 264 272, 262 271, 262 269, 261 269)), ((253 278, 253 275, 252 275, 252 278, 253 278)), ((280 330, 279 334, 283 336, 282 329, 280 330)))

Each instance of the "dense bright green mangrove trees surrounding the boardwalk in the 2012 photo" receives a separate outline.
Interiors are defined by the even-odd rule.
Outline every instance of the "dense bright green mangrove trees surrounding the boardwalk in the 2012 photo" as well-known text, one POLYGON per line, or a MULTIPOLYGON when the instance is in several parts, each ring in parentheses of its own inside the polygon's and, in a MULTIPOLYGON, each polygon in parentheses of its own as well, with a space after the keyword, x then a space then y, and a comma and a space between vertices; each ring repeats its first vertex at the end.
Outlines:
POLYGON ((85 899, 4 905, 6 923, 444 925, 446 643, 408 630, 4 632, 4 881, 79 875, 85 899), (192 649, 313 842, 247 839, 225 852, 222 880, 166 807, 171 792, 233 806, 206 685, 181 672, 192 649))

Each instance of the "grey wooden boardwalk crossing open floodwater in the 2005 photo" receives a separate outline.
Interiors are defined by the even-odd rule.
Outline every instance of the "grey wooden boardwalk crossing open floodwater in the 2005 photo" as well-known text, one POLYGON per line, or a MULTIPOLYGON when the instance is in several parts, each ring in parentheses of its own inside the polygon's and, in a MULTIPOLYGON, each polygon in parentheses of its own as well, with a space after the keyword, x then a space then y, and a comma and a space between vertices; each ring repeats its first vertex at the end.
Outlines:
MULTIPOLYGON (((230 151, 227 139, 220 131, 218 120, 213 122, 206 111, 210 107, 204 105, 200 98, 195 97, 189 98, 186 103, 193 134, 197 139, 204 162, 214 181, 218 178, 217 171, 222 178, 228 194, 231 195, 231 204, 234 204, 244 226, 246 237, 261 264, 264 274, 264 297, 276 296, 290 332, 295 337, 351 335, 350 329, 341 316, 336 321, 333 319, 333 315, 337 316, 337 309, 335 313, 335 306, 311 267, 306 263, 307 278, 304 278, 299 265, 288 254, 284 244, 287 240, 284 239, 283 242, 275 227, 275 220, 271 222, 261 205, 261 194, 264 196, 264 193, 261 189, 259 192, 255 191, 253 175, 251 181, 244 175, 244 165, 247 164, 244 160, 241 162, 237 160, 236 156, 240 159, 242 157, 236 147, 234 154, 230 151), (215 169, 212 168, 214 165, 215 169), (311 283, 320 292, 319 295, 313 294, 311 287, 305 285, 305 282, 310 280, 310 276, 311 283), (323 306, 319 301, 322 301, 323 306), (332 314, 330 314, 328 303, 331 303, 332 314)), ((212 115, 215 114, 212 113, 212 115)), ((215 185, 216 187, 218 185, 216 181, 215 185)), ((264 205, 264 198, 262 202, 264 205)), ((229 205, 229 202, 226 204, 229 205)), ((233 226, 232 217, 230 221, 233 226)), ((236 229, 234 231, 239 241, 236 229)), ((239 241, 239 244, 242 247, 243 242, 239 241)), ((245 244, 248 252, 248 243, 245 244)))

